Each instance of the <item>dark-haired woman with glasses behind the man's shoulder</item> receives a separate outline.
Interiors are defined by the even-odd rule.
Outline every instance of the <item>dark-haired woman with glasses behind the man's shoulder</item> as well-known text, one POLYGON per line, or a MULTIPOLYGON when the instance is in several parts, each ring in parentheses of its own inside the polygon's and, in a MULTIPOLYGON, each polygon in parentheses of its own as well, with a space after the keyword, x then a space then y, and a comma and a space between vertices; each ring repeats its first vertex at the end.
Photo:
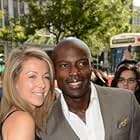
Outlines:
MULTIPOLYGON (((135 65, 122 64, 115 72, 111 86, 131 90, 137 98, 140 95, 139 77, 138 68, 135 65)), ((138 102, 140 103, 139 100, 138 102)))

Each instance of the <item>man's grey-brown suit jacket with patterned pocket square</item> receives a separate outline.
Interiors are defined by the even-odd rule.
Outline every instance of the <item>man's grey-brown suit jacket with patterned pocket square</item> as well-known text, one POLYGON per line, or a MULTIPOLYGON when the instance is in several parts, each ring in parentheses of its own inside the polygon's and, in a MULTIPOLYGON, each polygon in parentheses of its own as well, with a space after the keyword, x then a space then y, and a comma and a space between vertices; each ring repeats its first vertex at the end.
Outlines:
MULTIPOLYGON (((133 94, 118 88, 95 87, 105 140, 140 140, 140 106, 133 94)), ((42 140, 80 140, 64 117, 60 99, 54 105, 42 140)))

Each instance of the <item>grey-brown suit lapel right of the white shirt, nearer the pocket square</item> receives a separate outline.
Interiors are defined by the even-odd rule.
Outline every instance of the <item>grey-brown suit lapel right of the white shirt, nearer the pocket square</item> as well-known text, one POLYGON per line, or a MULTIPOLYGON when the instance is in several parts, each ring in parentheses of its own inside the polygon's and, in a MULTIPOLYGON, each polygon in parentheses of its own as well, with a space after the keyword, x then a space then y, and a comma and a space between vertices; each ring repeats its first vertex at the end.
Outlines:
POLYGON ((101 113, 103 117, 103 122, 104 122, 104 128, 105 128, 105 140, 110 139, 110 134, 111 134, 111 123, 112 123, 112 110, 111 110, 111 104, 110 104, 110 98, 108 97, 109 95, 105 93, 105 91, 98 87, 95 86, 97 89, 97 95, 99 97, 99 104, 101 107, 101 113))

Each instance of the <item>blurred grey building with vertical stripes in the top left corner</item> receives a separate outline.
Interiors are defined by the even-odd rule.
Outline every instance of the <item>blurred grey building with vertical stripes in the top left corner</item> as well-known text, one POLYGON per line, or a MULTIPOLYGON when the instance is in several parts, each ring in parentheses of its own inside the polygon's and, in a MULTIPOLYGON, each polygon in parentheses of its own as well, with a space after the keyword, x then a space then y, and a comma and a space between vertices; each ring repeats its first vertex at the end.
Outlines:
POLYGON ((28 6, 20 0, 0 0, 0 10, 4 12, 4 16, 0 19, 0 27, 3 27, 9 24, 10 18, 17 18, 28 12, 28 6))

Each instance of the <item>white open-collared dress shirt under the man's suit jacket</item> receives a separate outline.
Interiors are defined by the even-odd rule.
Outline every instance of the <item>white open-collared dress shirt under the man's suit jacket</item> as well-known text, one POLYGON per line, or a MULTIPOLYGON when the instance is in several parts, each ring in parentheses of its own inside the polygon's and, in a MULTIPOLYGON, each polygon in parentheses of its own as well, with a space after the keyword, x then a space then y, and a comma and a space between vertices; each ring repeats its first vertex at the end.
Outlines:
POLYGON ((83 122, 75 113, 68 110, 63 94, 61 94, 61 104, 65 118, 80 140, 105 139, 104 124, 99 99, 95 86, 92 83, 90 104, 86 110, 86 123, 83 122))

